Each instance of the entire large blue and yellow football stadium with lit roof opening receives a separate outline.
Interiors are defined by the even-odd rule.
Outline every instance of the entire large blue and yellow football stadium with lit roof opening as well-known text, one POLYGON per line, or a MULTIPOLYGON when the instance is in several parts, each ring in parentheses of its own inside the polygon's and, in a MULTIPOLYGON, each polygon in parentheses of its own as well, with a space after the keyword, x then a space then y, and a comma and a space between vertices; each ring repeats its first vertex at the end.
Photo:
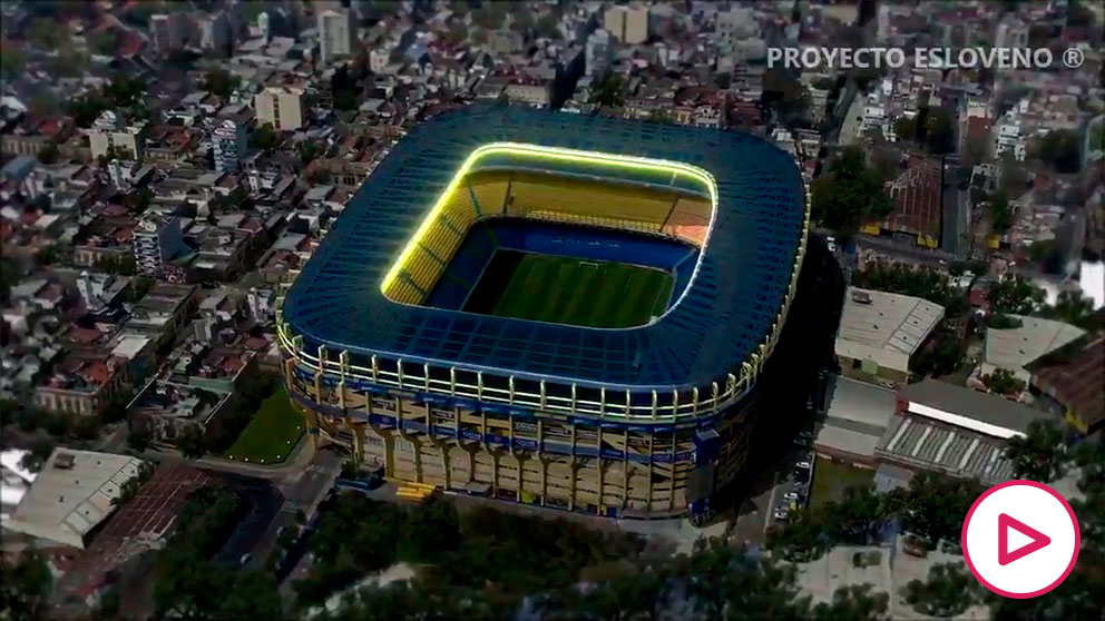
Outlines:
POLYGON ((448 111, 291 275, 289 393, 316 440, 414 489, 703 520, 808 229, 794 160, 749 135, 448 111))

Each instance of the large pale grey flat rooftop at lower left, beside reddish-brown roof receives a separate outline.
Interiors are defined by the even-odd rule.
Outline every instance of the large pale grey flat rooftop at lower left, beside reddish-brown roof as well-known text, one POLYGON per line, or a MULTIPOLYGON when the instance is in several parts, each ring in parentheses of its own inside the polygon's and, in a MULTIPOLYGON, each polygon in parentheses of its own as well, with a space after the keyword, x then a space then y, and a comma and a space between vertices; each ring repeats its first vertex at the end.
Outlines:
POLYGON ((84 548, 85 535, 115 510, 111 500, 140 464, 127 455, 57 448, 4 525, 84 548))

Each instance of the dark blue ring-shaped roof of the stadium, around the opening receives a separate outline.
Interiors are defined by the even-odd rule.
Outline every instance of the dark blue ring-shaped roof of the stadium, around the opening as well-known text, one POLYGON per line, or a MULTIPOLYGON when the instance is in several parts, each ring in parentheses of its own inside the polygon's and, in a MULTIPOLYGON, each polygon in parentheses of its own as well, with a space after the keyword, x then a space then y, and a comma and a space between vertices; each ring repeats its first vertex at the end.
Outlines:
POLYGON ((304 266, 283 318, 312 353, 326 345, 354 357, 377 354, 596 387, 704 385, 737 369, 770 333, 790 286, 804 201, 791 156, 750 135, 470 106, 419 125, 395 145, 304 266), (684 299, 651 325, 599 329, 384 297, 384 274, 460 164, 493 141, 674 160, 710 171, 717 214, 684 299))

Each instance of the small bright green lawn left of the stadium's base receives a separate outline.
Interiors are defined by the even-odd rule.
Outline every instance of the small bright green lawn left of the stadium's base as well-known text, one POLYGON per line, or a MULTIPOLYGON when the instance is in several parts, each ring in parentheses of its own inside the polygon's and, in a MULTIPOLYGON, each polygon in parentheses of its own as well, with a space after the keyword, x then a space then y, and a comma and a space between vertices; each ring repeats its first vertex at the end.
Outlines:
POLYGON ((305 430, 303 416, 292 407, 281 386, 261 404, 257 414, 234 441, 226 457, 272 464, 287 459, 305 430))

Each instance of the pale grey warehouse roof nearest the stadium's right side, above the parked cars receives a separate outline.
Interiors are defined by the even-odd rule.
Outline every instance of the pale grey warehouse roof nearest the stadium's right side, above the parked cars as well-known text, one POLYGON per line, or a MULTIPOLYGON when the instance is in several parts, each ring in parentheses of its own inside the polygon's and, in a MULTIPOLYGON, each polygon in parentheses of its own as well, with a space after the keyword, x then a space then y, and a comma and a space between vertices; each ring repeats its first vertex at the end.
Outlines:
POLYGON ((943 306, 908 295, 850 287, 837 334, 837 355, 909 371, 909 357, 937 323, 943 306))

